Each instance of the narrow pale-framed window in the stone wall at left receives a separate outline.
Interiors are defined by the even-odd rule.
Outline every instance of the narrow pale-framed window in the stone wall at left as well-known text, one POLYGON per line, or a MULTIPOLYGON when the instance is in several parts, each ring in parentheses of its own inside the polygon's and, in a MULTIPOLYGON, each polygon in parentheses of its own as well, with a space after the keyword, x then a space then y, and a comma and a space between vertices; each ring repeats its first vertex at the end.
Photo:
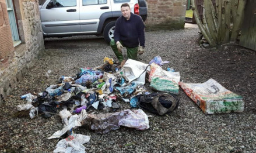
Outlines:
MULTIPOLYGON (((5 0, 7 6, 7 12, 10 21, 10 30, 12 31, 12 40, 15 44, 20 43, 19 32, 17 31, 17 24, 15 19, 15 12, 13 10, 12 0, 5 0)), ((15 45, 16 46, 16 45, 15 45)))

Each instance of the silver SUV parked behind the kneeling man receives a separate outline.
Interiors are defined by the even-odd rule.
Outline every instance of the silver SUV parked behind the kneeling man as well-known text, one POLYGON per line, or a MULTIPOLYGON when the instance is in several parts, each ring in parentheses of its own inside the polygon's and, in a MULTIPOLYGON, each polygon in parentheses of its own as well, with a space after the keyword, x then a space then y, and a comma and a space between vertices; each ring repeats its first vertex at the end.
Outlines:
POLYGON ((146 20, 145 0, 46 0, 39 6, 44 37, 103 34, 109 43, 122 3, 129 3, 132 13, 146 20))

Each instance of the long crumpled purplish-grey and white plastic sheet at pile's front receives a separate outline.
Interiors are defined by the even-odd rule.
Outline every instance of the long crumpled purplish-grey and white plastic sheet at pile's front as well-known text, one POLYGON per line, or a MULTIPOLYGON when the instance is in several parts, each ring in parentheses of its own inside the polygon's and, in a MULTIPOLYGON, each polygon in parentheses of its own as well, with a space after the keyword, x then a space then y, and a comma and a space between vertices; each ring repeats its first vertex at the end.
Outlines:
POLYGON ((146 130, 149 129, 149 119, 141 109, 124 110, 115 113, 88 114, 87 118, 82 121, 82 126, 101 134, 117 130, 120 126, 146 130))

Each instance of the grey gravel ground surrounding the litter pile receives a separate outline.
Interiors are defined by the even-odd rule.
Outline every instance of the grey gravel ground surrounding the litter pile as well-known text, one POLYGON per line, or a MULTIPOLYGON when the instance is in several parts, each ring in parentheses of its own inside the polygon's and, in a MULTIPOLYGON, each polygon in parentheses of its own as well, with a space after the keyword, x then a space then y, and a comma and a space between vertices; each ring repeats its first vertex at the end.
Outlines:
MULTIPOLYGON (((145 131, 121 128, 96 134, 83 128, 75 132, 91 136, 86 152, 256 152, 256 55, 240 46, 202 49, 197 44, 198 30, 146 32, 146 52, 139 60, 148 63, 159 55, 181 73, 184 82, 200 83, 209 78, 244 97, 243 113, 205 115, 180 89, 180 105, 166 116, 150 112, 150 128, 145 131)), ((73 76, 80 67, 103 64, 114 57, 101 37, 82 36, 45 39, 45 54, 24 76, 13 95, 1 108, 1 152, 52 152, 57 139, 48 140, 63 125, 58 115, 44 119, 13 117, 25 93, 43 92, 57 83, 61 75, 73 76), (45 73, 51 70, 50 76, 45 73)), ((121 110, 130 108, 120 102, 121 110)))

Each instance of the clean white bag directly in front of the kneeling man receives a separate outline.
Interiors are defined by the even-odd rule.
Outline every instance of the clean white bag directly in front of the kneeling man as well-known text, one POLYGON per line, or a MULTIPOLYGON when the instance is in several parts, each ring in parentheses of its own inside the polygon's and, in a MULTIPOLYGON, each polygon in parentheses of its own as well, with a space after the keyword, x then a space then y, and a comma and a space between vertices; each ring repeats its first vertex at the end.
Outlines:
POLYGON ((122 71, 124 73, 123 77, 128 82, 135 82, 137 84, 145 84, 146 70, 149 70, 149 64, 142 63, 140 61, 128 59, 122 71))

